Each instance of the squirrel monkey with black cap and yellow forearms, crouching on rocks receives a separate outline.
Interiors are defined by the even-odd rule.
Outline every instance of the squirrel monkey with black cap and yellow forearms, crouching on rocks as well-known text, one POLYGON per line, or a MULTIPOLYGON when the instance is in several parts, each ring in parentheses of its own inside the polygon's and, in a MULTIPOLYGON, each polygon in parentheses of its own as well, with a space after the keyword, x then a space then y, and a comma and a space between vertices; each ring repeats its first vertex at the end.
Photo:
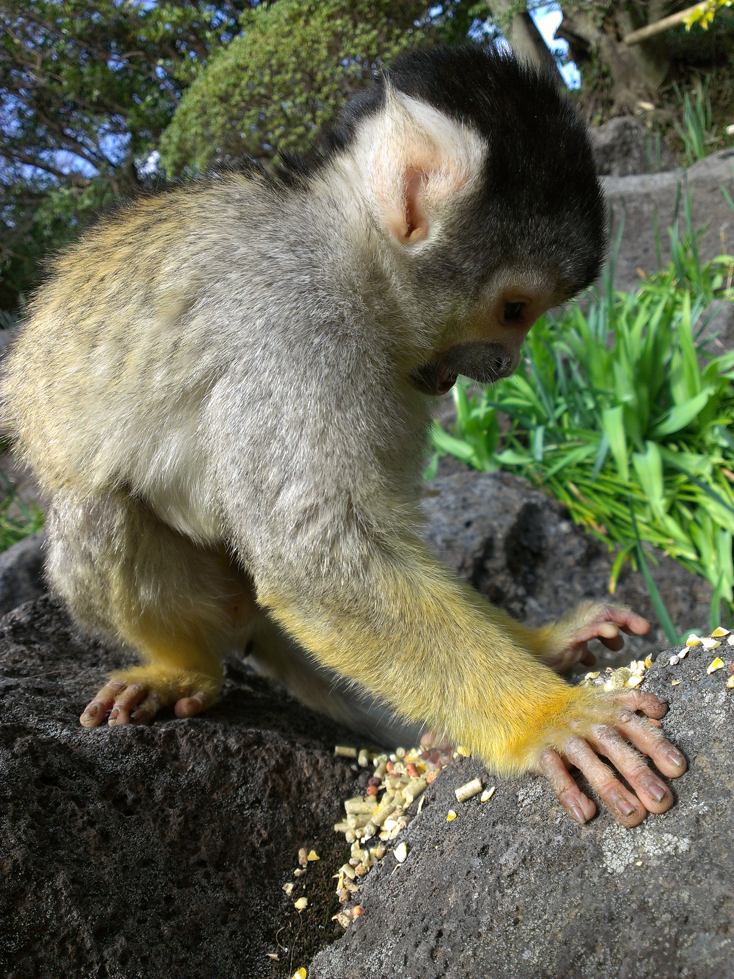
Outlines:
POLYGON ((595 808, 569 766, 624 825, 668 809, 640 753, 669 777, 685 760, 636 714, 665 705, 554 672, 645 620, 587 604, 528 629, 416 533, 433 398, 509 375, 604 247, 555 81, 466 46, 395 61, 305 158, 142 197, 59 257, 3 410, 52 498, 50 582, 141 658, 81 723, 198 714, 266 614, 290 637, 272 670, 297 691, 302 671, 306 700, 298 647, 492 769, 543 773, 579 822, 595 808))

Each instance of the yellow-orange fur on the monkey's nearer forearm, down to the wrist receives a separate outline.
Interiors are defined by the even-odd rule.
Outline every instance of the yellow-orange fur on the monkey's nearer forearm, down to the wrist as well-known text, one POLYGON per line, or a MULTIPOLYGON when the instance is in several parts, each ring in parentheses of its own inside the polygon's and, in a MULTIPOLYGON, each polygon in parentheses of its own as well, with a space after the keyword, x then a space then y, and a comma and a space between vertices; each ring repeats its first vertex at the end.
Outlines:
POLYGON ((259 601, 322 664, 357 680, 411 721, 471 747, 492 768, 534 766, 568 735, 587 691, 519 648, 488 606, 418 548, 373 562, 362 589, 324 589, 306 606, 267 588, 259 601))

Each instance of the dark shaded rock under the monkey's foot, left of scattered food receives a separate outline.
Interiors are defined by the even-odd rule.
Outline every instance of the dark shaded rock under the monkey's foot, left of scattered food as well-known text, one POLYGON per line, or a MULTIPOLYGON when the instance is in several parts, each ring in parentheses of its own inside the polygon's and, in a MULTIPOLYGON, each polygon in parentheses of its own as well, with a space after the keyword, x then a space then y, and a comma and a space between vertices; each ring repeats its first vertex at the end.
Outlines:
POLYGON ((236 666, 202 718, 84 730, 119 662, 48 598, 0 623, 0 975, 293 975, 341 933, 348 732, 236 666), (322 859, 287 897, 303 846, 322 859))

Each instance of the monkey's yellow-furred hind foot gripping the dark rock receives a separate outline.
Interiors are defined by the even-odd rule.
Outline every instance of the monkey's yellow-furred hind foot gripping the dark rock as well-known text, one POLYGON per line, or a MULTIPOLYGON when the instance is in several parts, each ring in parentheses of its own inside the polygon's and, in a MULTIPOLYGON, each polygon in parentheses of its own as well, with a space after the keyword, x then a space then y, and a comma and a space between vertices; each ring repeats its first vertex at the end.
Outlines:
POLYGON ((219 680, 206 674, 133 667, 113 674, 84 708, 79 722, 82 727, 98 727, 110 711, 111 727, 131 721, 148 723, 161 707, 170 704, 177 718, 191 718, 212 703, 218 689, 219 680))

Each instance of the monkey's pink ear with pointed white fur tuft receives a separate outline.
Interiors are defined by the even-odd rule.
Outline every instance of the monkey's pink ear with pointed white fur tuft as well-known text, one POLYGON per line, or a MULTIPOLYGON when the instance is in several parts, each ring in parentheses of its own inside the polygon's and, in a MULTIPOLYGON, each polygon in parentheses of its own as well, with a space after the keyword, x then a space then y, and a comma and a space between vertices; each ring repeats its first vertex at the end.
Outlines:
POLYGON ((486 149, 474 129, 389 89, 381 111, 359 126, 355 156, 380 223, 413 248, 435 237, 476 185, 486 149))

